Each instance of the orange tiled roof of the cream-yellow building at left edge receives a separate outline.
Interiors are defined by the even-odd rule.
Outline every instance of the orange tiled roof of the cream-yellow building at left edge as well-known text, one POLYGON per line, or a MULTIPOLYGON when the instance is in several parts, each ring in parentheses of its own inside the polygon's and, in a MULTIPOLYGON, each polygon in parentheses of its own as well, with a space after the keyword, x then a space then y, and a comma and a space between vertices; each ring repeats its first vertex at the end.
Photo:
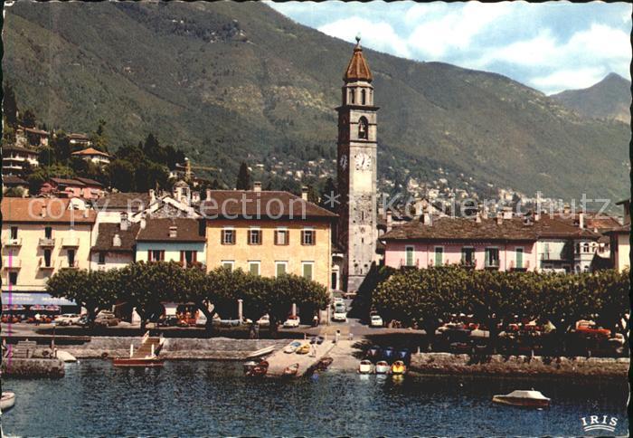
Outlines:
POLYGON ((2 218, 5 222, 93 224, 97 213, 94 210, 69 210, 69 199, 61 198, 17 198, 2 200, 2 218), (42 212, 44 215, 42 215, 42 212))

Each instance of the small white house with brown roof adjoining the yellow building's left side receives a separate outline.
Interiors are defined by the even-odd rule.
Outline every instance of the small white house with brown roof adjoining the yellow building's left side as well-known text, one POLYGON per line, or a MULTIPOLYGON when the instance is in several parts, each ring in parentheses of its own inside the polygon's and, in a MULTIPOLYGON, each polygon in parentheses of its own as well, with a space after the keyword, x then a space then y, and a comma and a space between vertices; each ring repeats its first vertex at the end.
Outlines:
POLYGON ((184 217, 141 219, 138 223, 137 262, 181 262, 184 266, 206 260, 204 222, 184 217))

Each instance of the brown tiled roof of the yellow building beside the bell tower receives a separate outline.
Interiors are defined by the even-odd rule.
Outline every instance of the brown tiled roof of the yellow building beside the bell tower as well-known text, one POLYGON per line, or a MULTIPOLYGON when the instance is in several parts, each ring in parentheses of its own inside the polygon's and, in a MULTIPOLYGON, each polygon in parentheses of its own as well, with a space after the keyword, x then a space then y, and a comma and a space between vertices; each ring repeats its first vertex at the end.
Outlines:
POLYGON ((252 190, 212 190, 211 198, 203 201, 199 212, 207 219, 236 217, 252 219, 310 218, 333 219, 336 214, 316 204, 304 201, 288 192, 252 190))

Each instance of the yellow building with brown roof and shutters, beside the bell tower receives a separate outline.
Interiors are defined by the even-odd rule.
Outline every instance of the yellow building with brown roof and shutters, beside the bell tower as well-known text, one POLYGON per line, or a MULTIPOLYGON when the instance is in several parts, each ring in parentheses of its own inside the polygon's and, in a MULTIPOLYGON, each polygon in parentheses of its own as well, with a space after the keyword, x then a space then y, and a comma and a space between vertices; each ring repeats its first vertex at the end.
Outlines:
POLYGON ((332 224, 336 215, 288 192, 210 190, 206 266, 241 268, 274 277, 291 273, 330 286, 332 224))

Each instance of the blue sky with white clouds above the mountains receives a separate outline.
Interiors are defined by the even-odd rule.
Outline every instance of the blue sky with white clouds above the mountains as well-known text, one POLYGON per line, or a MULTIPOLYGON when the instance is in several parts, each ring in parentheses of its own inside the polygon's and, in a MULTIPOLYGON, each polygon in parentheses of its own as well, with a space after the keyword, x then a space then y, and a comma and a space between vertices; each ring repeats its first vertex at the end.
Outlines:
POLYGON ((417 61, 494 71, 546 94, 587 88, 616 72, 630 80, 627 3, 269 3, 349 43, 417 61))

